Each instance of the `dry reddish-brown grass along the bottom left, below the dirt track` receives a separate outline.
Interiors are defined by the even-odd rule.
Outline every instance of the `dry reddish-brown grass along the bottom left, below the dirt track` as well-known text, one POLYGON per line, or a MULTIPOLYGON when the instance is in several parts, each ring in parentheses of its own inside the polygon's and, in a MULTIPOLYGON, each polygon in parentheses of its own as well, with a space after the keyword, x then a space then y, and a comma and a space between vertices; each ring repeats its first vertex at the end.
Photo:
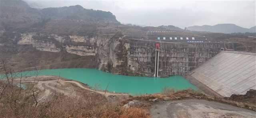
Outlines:
POLYGON ((142 108, 124 108, 123 104, 111 103, 96 93, 64 96, 54 93, 47 102, 35 105, 30 88, 21 90, 13 86, 6 89, 0 99, 0 118, 149 118, 142 108))

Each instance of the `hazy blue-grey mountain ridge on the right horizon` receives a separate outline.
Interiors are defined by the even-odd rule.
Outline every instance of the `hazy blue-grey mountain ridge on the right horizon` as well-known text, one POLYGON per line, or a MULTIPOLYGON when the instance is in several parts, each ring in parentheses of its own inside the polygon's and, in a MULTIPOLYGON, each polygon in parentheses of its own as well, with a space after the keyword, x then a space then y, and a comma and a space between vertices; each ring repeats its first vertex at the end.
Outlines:
POLYGON ((191 31, 199 31, 199 32, 218 32, 218 33, 235 33, 235 32, 255 32, 255 26, 248 29, 242 28, 235 24, 217 24, 214 26, 203 25, 203 26, 190 26, 187 29, 191 31))

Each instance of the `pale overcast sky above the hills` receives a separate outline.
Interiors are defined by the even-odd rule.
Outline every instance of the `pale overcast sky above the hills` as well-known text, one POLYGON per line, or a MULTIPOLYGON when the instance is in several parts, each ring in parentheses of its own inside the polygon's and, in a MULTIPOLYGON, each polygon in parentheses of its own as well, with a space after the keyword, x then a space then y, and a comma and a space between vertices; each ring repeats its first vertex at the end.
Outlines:
POLYGON ((244 28, 256 25, 256 0, 25 0, 32 6, 81 5, 112 12, 121 23, 145 26, 232 23, 244 28))

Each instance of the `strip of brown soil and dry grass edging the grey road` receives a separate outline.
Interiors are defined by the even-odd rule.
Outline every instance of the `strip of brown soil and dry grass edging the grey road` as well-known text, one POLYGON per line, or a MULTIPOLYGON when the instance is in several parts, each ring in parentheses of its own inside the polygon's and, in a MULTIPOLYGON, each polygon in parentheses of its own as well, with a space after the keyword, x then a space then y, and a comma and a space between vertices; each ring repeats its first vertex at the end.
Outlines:
MULTIPOLYGON (((165 97, 169 97, 170 100, 188 100, 188 99, 208 100, 208 101, 220 102, 220 103, 229 104, 232 106, 237 106, 240 108, 245 108, 245 109, 256 111, 255 102, 246 101, 246 100, 254 101, 256 99, 254 90, 251 90, 251 91, 253 91, 253 93, 250 92, 250 95, 251 95, 250 97, 249 96, 244 97, 245 100, 242 100, 242 99, 239 100, 238 98, 233 100, 231 97, 230 98, 212 97, 212 96, 207 96, 201 92, 189 89, 189 90, 181 90, 181 91, 177 91, 177 92, 171 91, 170 93, 164 93, 164 94, 152 94, 152 95, 150 94, 150 95, 144 95, 144 96, 136 96, 136 97, 128 99, 122 103, 126 104, 129 101, 138 100, 138 101, 144 102, 144 104, 143 104, 144 106, 143 105, 142 106, 147 108, 147 107, 151 106, 151 103, 154 103, 150 100, 152 100, 154 98, 158 98, 159 101, 164 101, 165 97), (148 104, 148 103, 150 103, 150 104, 148 104)), ((242 95, 240 95, 240 96, 242 96, 242 95)))

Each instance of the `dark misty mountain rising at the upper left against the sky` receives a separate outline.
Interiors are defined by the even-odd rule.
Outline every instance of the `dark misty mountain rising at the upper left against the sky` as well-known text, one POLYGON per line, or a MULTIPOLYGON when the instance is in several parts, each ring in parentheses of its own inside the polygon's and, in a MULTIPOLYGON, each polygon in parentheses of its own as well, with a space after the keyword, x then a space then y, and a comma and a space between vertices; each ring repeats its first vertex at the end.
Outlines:
POLYGON ((0 29, 10 32, 90 34, 97 26, 120 24, 111 12, 80 5, 38 10, 22 0, 0 0, 0 13, 0 29))

